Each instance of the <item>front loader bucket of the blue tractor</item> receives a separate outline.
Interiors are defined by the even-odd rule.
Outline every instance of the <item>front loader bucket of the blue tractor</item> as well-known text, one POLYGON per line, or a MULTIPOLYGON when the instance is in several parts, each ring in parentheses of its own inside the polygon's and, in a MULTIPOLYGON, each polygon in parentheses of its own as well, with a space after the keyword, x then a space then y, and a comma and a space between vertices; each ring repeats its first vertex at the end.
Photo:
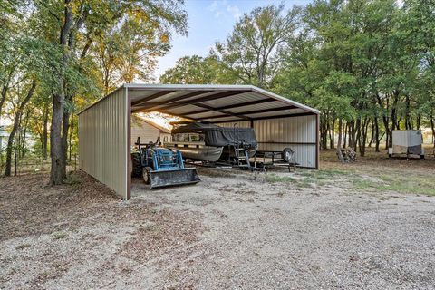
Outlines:
POLYGON ((195 168, 150 171, 150 189, 194 184, 199 181, 201 179, 195 168))

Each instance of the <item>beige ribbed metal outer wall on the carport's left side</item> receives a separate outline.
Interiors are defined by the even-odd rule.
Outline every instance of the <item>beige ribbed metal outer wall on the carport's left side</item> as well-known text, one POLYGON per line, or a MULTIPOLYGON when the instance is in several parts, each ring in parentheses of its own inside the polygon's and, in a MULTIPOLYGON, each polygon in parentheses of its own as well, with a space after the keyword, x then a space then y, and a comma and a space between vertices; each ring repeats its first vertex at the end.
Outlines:
POLYGON ((121 88, 79 115, 79 167, 115 190, 128 194, 129 102, 121 88))

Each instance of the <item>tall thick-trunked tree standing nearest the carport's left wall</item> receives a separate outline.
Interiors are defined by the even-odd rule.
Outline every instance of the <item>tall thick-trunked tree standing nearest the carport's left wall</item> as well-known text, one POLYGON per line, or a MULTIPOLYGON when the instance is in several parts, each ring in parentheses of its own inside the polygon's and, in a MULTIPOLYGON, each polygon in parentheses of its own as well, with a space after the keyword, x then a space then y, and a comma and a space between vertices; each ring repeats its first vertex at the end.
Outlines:
POLYGON ((108 34, 117 27, 121 30, 128 27, 121 36, 128 40, 124 43, 126 50, 123 52, 129 53, 130 58, 123 59, 119 69, 121 81, 131 82, 136 76, 145 76, 140 65, 144 65, 142 62, 146 57, 141 53, 144 53, 144 48, 150 47, 150 39, 157 37, 163 43, 150 49, 151 61, 161 55, 160 51, 168 51, 173 30, 186 33, 186 14, 182 3, 170 0, 51 0, 35 1, 34 5, 41 19, 48 19, 39 23, 41 32, 48 32, 42 33, 43 36, 61 54, 59 62, 53 66, 53 77, 50 79, 53 97, 50 182, 60 184, 66 176, 67 140, 74 97, 83 90, 80 84, 88 77, 82 65, 87 63, 84 60, 91 53, 92 43, 102 40, 99 35, 108 34))

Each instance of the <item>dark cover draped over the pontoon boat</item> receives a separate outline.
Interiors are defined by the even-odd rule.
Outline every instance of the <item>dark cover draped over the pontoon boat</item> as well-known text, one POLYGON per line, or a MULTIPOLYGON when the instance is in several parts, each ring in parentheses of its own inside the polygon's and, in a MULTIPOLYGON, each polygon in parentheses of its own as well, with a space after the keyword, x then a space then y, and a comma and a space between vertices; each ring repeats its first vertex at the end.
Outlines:
POLYGON ((236 146, 242 143, 256 146, 256 132, 252 128, 219 127, 214 124, 191 122, 172 129, 172 134, 177 133, 204 134, 207 146, 236 146))

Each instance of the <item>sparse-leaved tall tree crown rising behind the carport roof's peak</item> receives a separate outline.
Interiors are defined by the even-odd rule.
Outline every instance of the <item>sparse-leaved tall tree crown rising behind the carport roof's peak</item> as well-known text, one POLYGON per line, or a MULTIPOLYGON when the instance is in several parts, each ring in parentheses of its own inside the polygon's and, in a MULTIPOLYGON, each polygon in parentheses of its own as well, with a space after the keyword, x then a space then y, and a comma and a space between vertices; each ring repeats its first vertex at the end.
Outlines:
POLYGON ((284 5, 268 5, 244 14, 216 53, 239 83, 267 87, 280 63, 279 51, 299 24, 301 8, 283 14, 284 5))

